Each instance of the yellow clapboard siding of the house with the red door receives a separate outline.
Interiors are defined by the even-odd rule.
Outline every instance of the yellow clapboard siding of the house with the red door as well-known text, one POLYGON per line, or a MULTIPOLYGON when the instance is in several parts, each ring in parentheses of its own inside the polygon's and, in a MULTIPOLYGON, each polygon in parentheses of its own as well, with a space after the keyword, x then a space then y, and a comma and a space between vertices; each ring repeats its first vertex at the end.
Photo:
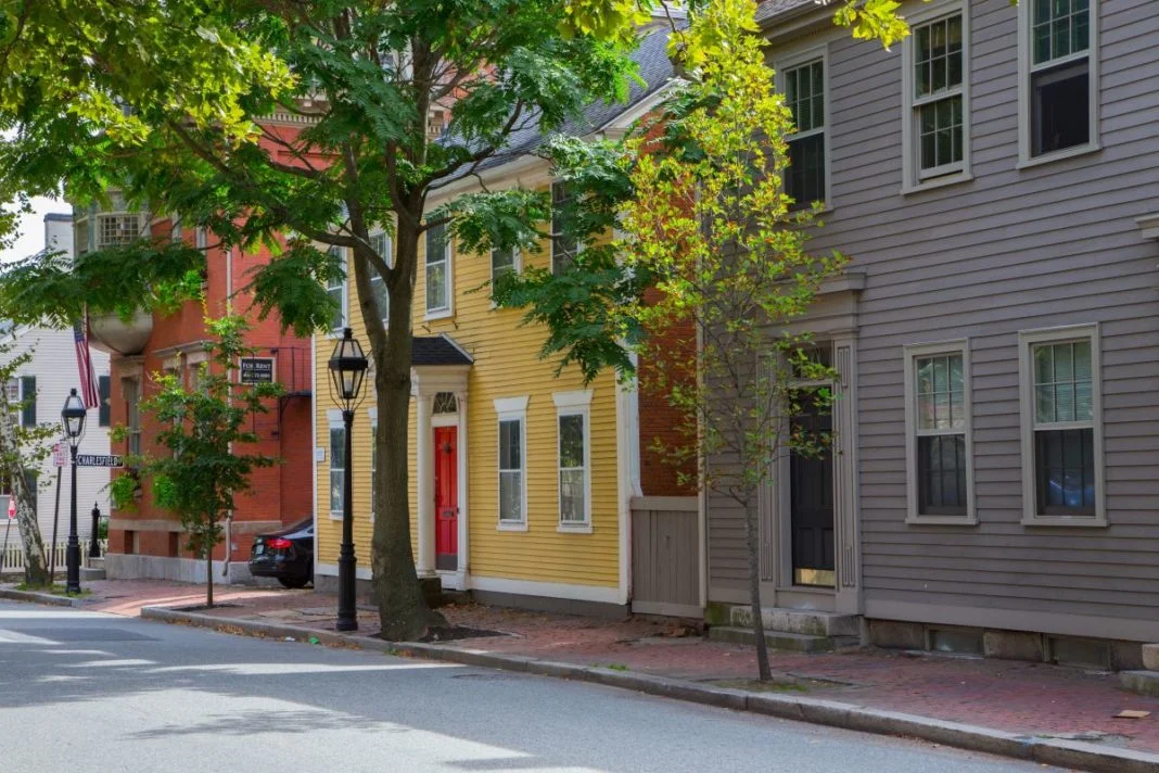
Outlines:
MULTIPOLYGON (((420 247, 422 251, 424 246, 420 247)), ((490 278, 489 256, 459 254, 453 249, 454 316, 424 320, 425 262, 420 257, 415 299, 415 335, 446 333, 475 364, 467 392, 467 490, 468 571, 472 576, 538 582, 617 586, 619 584, 619 511, 617 469, 615 380, 604 374, 586 388, 590 406, 591 533, 561 533, 556 471, 555 392, 585 388, 575 369, 554 377, 555 362, 540 360, 544 342, 539 327, 519 327, 520 313, 491 308, 489 293, 471 292, 490 278), (527 403, 527 531, 500 531, 498 524, 498 424, 494 400, 529 395, 527 403)), ((525 254, 523 265, 547 265, 549 251, 525 254)), ((366 341, 357 314, 351 282, 351 327, 366 341)), ((326 359, 333 340, 318 340, 319 444, 328 443, 327 408, 333 407, 325 388, 326 359)), ((372 404, 372 402, 371 402, 372 404)), ((355 422, 355 539, 358 563, 369 566, 372 524, 370 513, 370 422, 365 407, 355 422)), ((415 451, 415 409, 411 404, 410 449, 415 451)), ((319 556, 322 563, 337 560, 341 524, 329 520, 329 462, 319 462, 319 556)), ((461 473, 461 471, 460 471, 461 473)), ((410 464, 411 544, 417 544, 416 467, 410 464)))

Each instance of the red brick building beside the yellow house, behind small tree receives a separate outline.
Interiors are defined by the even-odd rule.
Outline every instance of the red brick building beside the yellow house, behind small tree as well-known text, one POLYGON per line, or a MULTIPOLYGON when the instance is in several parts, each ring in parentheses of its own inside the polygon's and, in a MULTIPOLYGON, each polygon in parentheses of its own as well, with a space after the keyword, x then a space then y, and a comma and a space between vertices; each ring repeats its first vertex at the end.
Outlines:
MULTIPOLYGON (((256 452, 277 457, 282 464, 253 473, 253 488, 236 497, 226 539, 213 554, 214 579, 247 582, 254 535, 313 515, 311 341, 283 333, 277 316, 260 321, 249 313, 252 297, 240 289, 248 284, 254 267, 270 260, 269 253, 223 249, 212 233, 182 227, 169 218, 127 211, 116 195, 112 199, 109 210, 76 211, 78 251, 129 241, 147 228, 154 235, 169 233, 199 247, 206 256, 203 302, 189 301, 165 316, 140 313, 129 324, 116 318, 90 320, 93 345, 111 355, 112 425, 129 430, 127 439, 111 444, 112 453, 167 452, 156 443, 155 421, 140 410, 140 404, 155 394, 159 373, 174 373, 187 387, 194 385, 199 364, 209 359, 206 315, 217 318, 231 309, 248 315, 253 324, 248 342, 256 357, 270 360, 274 379, 285 391, 284 396, 270 401, 269 413, 254 418, 254 430, 261 438, 256 452)), ((133 509, 111 512, 105 569, 114 578, 205 579, 205 563, 185 548, 180 519, 153 505, 147 483, 133 509)))

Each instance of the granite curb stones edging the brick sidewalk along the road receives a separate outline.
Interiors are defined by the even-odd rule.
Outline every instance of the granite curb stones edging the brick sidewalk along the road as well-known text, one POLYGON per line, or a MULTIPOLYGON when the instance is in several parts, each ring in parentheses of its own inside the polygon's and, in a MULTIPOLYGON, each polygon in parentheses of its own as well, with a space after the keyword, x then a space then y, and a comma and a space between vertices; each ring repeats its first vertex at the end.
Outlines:
MULTIPOLYGON (((48 596, 44 593, 0 590, 0 598, 5 598, 5 593, 23 593, 21 598, 28 596, 48 596)), ((79 600, 60 599, 59 597, 49 598, 53 600, 46 603, 57 605, 63 605, 61 601, 79 600)), ((39 599, 28 598, 27 600, 39 599)), ((79 606, 78 604, 70 605, 79 606)), ((948 722, 916 714, 888 712, 818 698, 750 693, 743 690, 713 687, 694 681, 672 679, 670 677, 625 672, 599 666, 584 666, 574 663, 541 661, 525 655, 496 655, 465 647, 427 644, 422 642, 392 643, 372 636, 345 635, 329 630, 315 630, 300 626, 261 622, 239 618, 217 618, 209 614, 182 612, 180 610, 158 606, 143 607, 140 617, 146 620, 183 622, 205 628, 232 627, 253 634, 283 639, 289 636, 299 642, 307 642, 311 637, 314 637, 322 644, 353 644, 362 649, 402 657, 444 661, 461 663, 464 665, 588 681, 704 706, 764 714, 782 720, 809 722, 811 724, 872 732, 875 735, 917 738, 968 751, 1032 760, 1043 765, 1056 765, 1096 773, 1159 773, 1159 754, 1131 749, 1101 746, 1083 741, 1018 735, 1005 730, 993 730, 972 724, 948 722)))

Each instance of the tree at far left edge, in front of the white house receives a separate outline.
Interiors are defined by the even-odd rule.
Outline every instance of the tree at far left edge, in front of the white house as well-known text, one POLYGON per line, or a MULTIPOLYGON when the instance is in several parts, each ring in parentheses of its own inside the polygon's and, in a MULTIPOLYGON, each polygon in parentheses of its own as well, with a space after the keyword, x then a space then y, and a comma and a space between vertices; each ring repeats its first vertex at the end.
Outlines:
MULTIPOLYGON (((6 388, 31 359, 25 351, 12 358, 15 344, 0 344, 0 479, 8 483, 9 496, 16 502, 16 527, 24 552, 24 582, 31 586, 49 584, 49 562, 36 519, 36 486, 30 471, 49 454, 49 442, 59 437, 56 423, 21 426, 20 411, 36 400, 35 394, 14 401, 6 388)), ((7 530, 8 526, 6 525, 7 530)), ((0 560, 2 560, 0 555, 0 560)))

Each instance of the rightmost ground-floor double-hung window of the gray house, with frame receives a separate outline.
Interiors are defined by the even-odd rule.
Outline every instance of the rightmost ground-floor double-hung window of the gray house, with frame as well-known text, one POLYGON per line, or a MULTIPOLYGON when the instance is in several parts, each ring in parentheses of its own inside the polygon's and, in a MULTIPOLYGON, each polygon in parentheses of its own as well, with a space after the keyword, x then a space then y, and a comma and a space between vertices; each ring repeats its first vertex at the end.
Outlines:
POLYGON ((1023 523, 1105 525, 1099 328, 1021 333, 1019 343, 1023 523))

